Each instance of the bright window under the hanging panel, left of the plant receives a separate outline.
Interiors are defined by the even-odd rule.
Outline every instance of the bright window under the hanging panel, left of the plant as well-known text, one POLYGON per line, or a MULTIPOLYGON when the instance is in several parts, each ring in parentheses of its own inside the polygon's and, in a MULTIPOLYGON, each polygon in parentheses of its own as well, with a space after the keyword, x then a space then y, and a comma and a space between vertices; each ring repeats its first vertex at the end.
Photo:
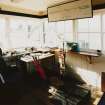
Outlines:
POLYGON ((63 41, 73 41, 73 21, 45 22, 45 45, 62 47, 63 41))

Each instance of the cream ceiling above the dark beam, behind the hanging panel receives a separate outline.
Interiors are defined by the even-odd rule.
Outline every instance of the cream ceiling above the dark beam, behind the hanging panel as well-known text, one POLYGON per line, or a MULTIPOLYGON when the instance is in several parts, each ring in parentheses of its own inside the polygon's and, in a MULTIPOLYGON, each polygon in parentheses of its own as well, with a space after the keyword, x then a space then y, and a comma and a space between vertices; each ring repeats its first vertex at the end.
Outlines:
MULTIPOLYGON (((47 7, 64 1, 65 0, 0 0, 0 9, 4 11, 43 16, 47 14, 47 7)), ((103 3, 105 4, 105 0, 92 0, 93 6, 103 3)))

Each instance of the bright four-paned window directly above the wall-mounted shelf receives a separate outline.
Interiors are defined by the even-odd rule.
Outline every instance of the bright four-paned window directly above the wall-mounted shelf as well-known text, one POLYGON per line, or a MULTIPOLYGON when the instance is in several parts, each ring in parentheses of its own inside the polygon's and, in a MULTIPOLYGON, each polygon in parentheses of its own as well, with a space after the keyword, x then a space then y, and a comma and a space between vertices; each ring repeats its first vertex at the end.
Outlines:
POLYGON ((77 36, 80 48, 101 50, 101 15, 77 21, 77 36))

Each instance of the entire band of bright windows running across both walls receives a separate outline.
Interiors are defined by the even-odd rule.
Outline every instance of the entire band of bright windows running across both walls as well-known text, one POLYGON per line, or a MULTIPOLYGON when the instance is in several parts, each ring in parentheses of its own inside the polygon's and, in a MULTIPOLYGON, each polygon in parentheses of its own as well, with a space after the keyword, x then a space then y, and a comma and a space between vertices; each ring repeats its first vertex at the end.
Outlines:
POLYGON ((80 48, 105 51, 105 13, 59 22, 3 15, 0 17, 0 33, 0 47, 4 49, 62 47, 63 42, 77 39, 80 48))

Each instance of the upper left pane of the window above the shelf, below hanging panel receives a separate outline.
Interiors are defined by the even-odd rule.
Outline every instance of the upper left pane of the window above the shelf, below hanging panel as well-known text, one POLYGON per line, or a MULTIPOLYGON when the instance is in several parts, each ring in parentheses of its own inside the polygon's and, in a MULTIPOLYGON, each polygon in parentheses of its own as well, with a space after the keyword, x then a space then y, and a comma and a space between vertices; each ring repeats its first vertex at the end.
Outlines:
POLYGON ((77 31, 78 32, 88 32, 88 19, 79 19, 77 31))

